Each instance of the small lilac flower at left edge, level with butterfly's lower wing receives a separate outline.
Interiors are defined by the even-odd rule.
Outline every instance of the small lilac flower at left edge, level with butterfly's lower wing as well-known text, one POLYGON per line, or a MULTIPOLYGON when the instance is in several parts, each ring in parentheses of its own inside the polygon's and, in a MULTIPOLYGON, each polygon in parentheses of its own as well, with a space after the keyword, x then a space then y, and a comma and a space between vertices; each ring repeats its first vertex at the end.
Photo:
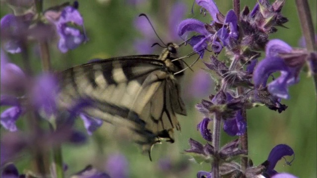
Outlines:
POLYGON ((9 95, 1 95, 0 105, 11 106, 1 113, 0 124, 10 132, 17 131, 15 122, 24 113, 18 99, 9 95))

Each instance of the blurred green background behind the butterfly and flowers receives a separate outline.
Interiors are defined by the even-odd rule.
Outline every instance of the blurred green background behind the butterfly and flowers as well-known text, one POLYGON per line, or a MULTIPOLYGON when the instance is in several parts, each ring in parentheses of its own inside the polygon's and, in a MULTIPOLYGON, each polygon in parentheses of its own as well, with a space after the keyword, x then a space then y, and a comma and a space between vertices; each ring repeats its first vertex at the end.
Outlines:
MULTIPOLYGON (((134 49, 134 42, 144 37, 134 27, 133 22, 140 13, 146 13, 151 17, 154 28, 165 43, 167 18, 170 6, 176 2, 173 0, 143 0, 143 3, 131 4, 133 0, 79 0, 79 11, 81 12, 85 28, 89 37, 89 42, 80 45, 75 50, 61 54, 56 48, 56 41, 51 45, 51 57, 53 67, 56 70, 63 70, 68 67, 86 63, 88 60, 101 57, 122 56, 137 54, 134 49)), ((142 0, 141 0, 142 1, 142 0)), ((200 7, 194 6, 194 15, 190 13, 193 0, 178 0, 187 5, 185 18, 198 18, 204 22, 209 22, 211 17, 207 14, 205 17, 199 14, 200 7)), ((62 0, 45 1, 45 8, 62 3, 62 0)), ((226 14, 226 11, 232 8, 231 0, 215 0, 219 10, 226 14)), ((252 8, 256 0, 241 0, 241 8, 249 5, 252 8)), ((309 0, 313 14, 313 22, 316 29, 316 0, 309 0)), ((288 28, 278 27, 277 33, 270 36, 270 39, 281 39, 293 47, 298 47, 298 41, 301 38, 301 29, 297 17, 294 0, 287 0, 282 13, 289 19, 285 24, 288 28)), ((1 0, 1 17, 10 9, 4 5, 1 0)), ((315 31, 316 32, 316 31, 315 31)), ((154 36, 153 39, 156 37, 154 36)), ((159 42, 159 40, 157 40, 159 42)), ((181 40, 179 41, 181 42, 181 40)), ((161 48, 158 48, 158 52, 161 48)), ((181 55, 188 54, 191 51, 190 46, 180 49, 181 55)), ((36 51, 36 47, 34 47, 36 51)), ((205 56, 209 56, 205 54, 205 56)), ((21 63, 19 57, 9 55, 15 63, 21 63)), ((220 59, 225 56, 220 55, 220 59)), ((192 61, 193 59, 185 59, 192 61)), ((207 61, 205 59, 205 61, 207 61)), ((32 63, 40 71, 39 57, 34 55, 32 63)), ((190 63, 190 62, 188 62, 190 63)), ((201 70, 204 65, 199 61, 194 66, 194 73, 186 71, 186 80, 183 80, 183 90, 190 85, 190 79, 196 72, 201 70)), ((212 88, 210 89, 212 91, 212 88)), ((186 93, 184 91, 183 93, 186 93)), ((292 166, 285 166, 285 161, 281 160, 276 167, 278 172, 289 172, 299 178, 315 178, 317 175, 317 106, 316 95, 312 78, 307 73, 301 74, 300 83, 290 88, 291 98, 283 100, 282 103, 288 105, 285 112, 278 114, 266 107, 258 107, 248 111, 248 134, 249 134, 249 156, 255 165, 263 163, 270 150, 277 144, 284 143, 291 146, 295 151, 295 160, 292 166)), ((106 159, 114 153, 122 153, 129 162, 130 178, 196 178, 196 173, 200 170, 210 171, 210 165, 205 163, 199 165, 191 160, 190 157, 182 152, 189 148, 188 139, 194 138, 203 143, 204 139, 196 130, 196 125, 203 116, 195 109, 195 104, 201 98, 184 96, 188 116, 178 116, 182 131, 175 132, 176 141, 173 144, 162 143, 156 145, 153 149, 153 161, 150 162, 146 154, 142 155, 139 147, 128 141, 126 134, 120 129, 116 129, 109 124, 104 124, 93 136, 89 142, 84 145, 63 145, 63 157, 68 164, 67 174, 72 174, 82 170, 86 165, 92 164, 101 171, 106 171, 106 159), (159 160, 162 158, 171 159, 175 167, 186 165, 182 171, 172 171, 162 173, 159 170, 159 160)), ((206 97, 205 97, 206 98, 206 97)), ((22 122, 22 121, 19 121, 22 122)), ((82 122, 78 120, 78 127, 82 122)), ((3 133, 3 129, 1 130, 3 133)), ((229 140, 235 139, 222 133, 222 145, 229 140)), ((288 157, 290 161, 292 157, 288 157)), ((27 170, 30 167, 29 156, 27 153, 17 160, 20 171, 27 170)), ((177 169, 176 169, 177 170, 177 169)))

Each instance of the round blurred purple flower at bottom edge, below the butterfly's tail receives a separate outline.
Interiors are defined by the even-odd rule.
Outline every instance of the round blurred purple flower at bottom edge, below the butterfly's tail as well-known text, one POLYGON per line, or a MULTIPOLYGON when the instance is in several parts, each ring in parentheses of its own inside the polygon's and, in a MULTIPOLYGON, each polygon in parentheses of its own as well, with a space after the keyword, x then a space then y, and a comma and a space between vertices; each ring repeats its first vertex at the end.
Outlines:
POLYGON ((111 178, 128 178, 128 160, 122 154, 112 154, 107 159, 106 170, 111 178))

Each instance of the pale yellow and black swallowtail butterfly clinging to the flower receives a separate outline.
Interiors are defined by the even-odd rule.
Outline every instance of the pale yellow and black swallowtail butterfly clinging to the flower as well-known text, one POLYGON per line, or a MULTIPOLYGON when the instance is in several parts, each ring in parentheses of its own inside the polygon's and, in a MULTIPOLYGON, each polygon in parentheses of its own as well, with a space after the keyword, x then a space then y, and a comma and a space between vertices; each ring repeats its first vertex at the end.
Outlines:
POLYGON ((67 69, 59 76, 60 102, 91 99, 85 114, 128 128, 151 159, 154 144, 174 142, 174 129, 181 129, 176 114, 186 115, 177 47, 169 43, 160 55, 113 57, 67 69))

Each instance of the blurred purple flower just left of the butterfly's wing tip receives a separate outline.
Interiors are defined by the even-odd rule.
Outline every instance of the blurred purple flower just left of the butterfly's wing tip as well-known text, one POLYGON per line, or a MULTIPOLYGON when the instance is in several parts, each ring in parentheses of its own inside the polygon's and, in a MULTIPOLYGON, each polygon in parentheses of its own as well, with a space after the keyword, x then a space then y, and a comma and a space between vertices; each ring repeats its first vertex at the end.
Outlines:
POLYGON ((57 114, 57 90, 57 79, 53 74, 38 77, 32 90, 32 102, 41 114, 44 112, 46 119, 57 114))

